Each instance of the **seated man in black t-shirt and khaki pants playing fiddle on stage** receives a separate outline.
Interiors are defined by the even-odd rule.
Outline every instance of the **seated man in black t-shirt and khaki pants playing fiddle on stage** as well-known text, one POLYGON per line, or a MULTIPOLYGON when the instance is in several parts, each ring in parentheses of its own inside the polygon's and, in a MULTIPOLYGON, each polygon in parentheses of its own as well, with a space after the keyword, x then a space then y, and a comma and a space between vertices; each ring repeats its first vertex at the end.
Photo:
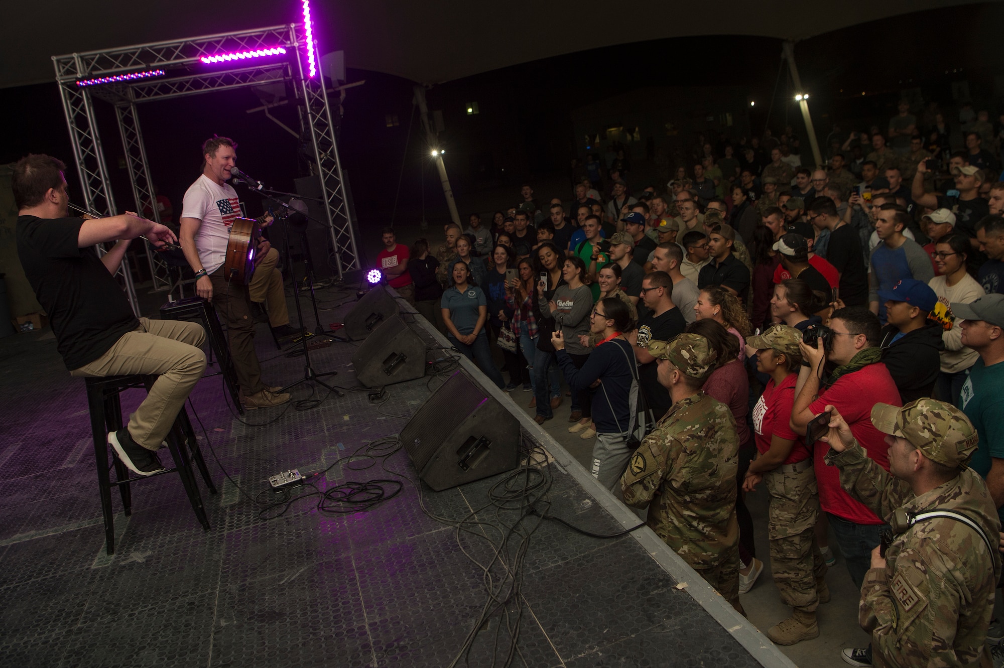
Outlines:
POLYGON ((155 450, 206 369, 206 333, 196 323, 137 320, 114 279, 130 242, 162 246, 178 239, 135 214, 68 218, 66 166, 28 155, 14 166, 17 253, 38 302, 49 315, 57 349, 73 376, 159 376, 129 424, 108 434, 122 462, 140 475, 164 470, 155 450), (119 240, 119 241, 116 241, 119 240), (96 244, 115 242, 98 258, 96 244))

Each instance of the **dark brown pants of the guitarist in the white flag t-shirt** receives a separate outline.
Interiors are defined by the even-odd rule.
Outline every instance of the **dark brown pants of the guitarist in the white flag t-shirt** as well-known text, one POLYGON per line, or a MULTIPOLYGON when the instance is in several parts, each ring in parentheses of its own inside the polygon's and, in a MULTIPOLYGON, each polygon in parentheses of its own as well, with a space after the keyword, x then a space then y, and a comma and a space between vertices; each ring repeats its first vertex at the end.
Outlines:
POLYGON ((210 274, 209 280, 213 282, 213 306, 227 323, 227 343, 237 384, 244 396, 257 394, 265 389, 265 384, 261 382, 261 364, 254 350, 254 318, 248 288, 240 281, 228 279, 226 265, 210 274))

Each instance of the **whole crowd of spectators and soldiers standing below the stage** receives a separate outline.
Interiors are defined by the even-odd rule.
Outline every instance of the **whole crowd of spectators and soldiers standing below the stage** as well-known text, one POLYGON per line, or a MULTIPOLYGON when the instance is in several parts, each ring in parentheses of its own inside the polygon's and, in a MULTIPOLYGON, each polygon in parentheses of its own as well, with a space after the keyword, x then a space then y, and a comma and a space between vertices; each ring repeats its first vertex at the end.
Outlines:
POLYGON ((834 128, 815 170, 790 129, 699 137, 665 188, 630 184, 622 150, 589 155, 566 198, 524 185, 435 251, 386 230, 382 265, 408 263, 391 285, 499 388, 532 392, 538 423, 567 398, 592 474, 739 611, 763 570, 743 500, 762 482, 792 608, 775 643, 818 636, 832 537, 872 636, 847 663, 1001 665, 1004 182, 986 121, 952 151, 943 116, 925 127, 904 101, 885 131, 834 128))

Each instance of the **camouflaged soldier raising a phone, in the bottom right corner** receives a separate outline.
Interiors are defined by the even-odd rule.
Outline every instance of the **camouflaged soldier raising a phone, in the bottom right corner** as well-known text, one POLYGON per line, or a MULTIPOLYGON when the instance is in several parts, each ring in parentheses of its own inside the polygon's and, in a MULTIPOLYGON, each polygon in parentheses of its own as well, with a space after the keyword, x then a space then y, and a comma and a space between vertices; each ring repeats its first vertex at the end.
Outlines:
POLYGON ((965 413, 934 399, 903 408, 877 403, 871 423, 890 434, 889 473, 835 410, 826 463, 839 467, 840 485, 895 534, 885 558, 881 546, 871 553, 861 586, 859 622, 871 634, 874 664, 979 666, 982 658, 990 665, 985 647, 1001 574, 1000 521, 983 478, 966 465, 979 436, 965 413), (913 524, 930 511, 954 515, 913 524))

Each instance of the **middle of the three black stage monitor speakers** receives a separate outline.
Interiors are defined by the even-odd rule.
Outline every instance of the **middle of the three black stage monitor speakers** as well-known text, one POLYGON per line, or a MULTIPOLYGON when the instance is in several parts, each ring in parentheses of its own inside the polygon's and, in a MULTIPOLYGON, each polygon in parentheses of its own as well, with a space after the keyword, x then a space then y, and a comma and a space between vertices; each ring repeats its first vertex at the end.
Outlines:
POLYGON ((385 320, 352 355, 355 378, 366 387, 403 383, 426 375, 426 342, 400 315, 385 320))

